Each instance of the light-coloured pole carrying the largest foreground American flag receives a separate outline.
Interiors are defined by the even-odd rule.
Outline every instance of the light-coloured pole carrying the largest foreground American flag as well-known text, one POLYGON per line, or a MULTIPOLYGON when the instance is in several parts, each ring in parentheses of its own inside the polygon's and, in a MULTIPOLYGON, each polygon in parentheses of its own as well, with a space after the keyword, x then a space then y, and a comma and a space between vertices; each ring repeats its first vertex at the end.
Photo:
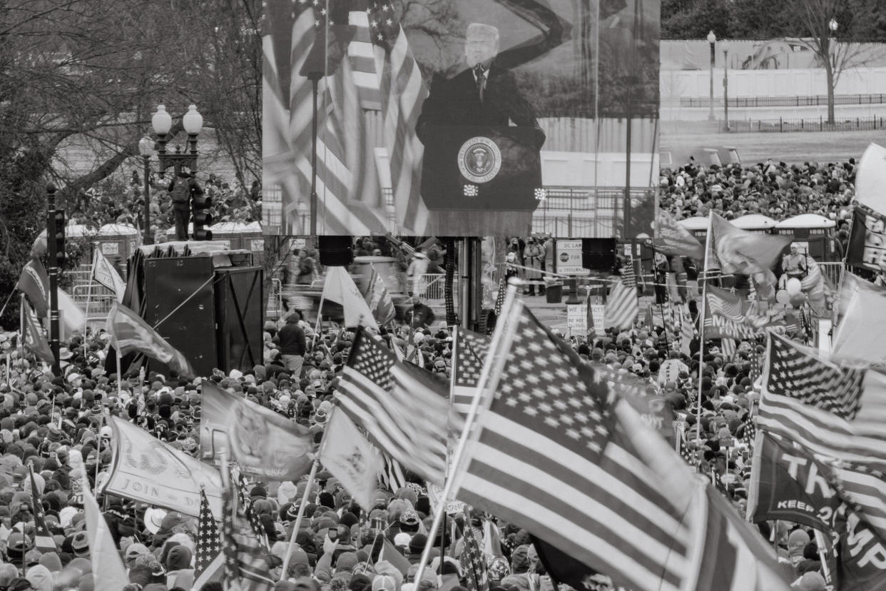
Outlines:
MULTIPOLYGON (((501 307, 502 311, 506 311, 506 314, 502 314, 503 318, 509 318, 511 309, 516 305, 515 300, 517 296, 517 286, 522 284, 519 279, 512 279, 508 282, 508 292, 505 296, 504 306, 501 307)), ((498 321, 496 321, 498 322, 498 321)), ((477 392, 474 393, 474 400, 470 403, 470 410, 468 411, 468 416, 464 420, 464 427, 462 428, 462 436, 458 440, 458 447, 455 448, 455 455, 453 456, 452 465, 455 466, 457 470, 459 463, 462 461, 462 455, 464 455, 464 448, 468 442, 468 438, 471 432, 471 424, 474 422, 474 419, 477 417, 477 412, 480 406, 481 399, 485 398, 483 393, 486 389, 494 389, 495 385, 497 385, 499 375, 501 374, 501 364, 504 360, 499 360, 491 355, 494 352, 498 351, 499 346, 501 345, 502 335, 507 332, 507 336, 504 337, 506 342, 510 343, 514 339, 514 334, 517 331, 517 323, 509 322, 505 324, 497 324, 495 328, 495 332, 493 334, 493 340, 489 345, 490 357, 486 358, 486 362, 483 364, 483 370, 480 372, 480 377, 477 381, 477 392), (496 365, 496 373, 494 375, 494 381, 496 384, 490 385, 490 375, 493 374, 493 364, 496 365)), ((434 521, 431 524, 431 531, 428 533, 428 540, 424 544, 424 550, 422 551, 422 557, 418 561, 418 571, 416 572, 416 586, 421 582, 422 575, 424 574, 424 566, 428 562, 428 558, 431 556, 431 549, 433 547, 434 537, 437 535, 439 530, 440 521, 443 518, 443 514, 446 513, 446 505, 447 500, 449 498, 449 494, 452 493, 453 485, 455 483, 455 478, 450 474, 449 478, 446 479, 446 485, 443 488, 443 493, 440 494, 440 502, 437 505, 437 509, 434 511, 434 521)))

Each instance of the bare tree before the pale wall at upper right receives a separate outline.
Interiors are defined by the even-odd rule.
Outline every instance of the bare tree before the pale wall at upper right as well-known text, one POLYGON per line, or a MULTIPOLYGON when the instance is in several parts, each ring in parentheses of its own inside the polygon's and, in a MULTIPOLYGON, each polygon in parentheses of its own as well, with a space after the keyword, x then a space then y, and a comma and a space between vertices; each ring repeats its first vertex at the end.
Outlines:
POLYGON ((800 24, 810 35, 804 43, 825 69, 828 84, 828 123, 833 124, 834 91, 840 75, 863 66, 871 57, 866 44, 852 43, 876 21, 871 0, 797 0, 791 4, 800 24), (837 39, 841 43, 836 43, 837 39))

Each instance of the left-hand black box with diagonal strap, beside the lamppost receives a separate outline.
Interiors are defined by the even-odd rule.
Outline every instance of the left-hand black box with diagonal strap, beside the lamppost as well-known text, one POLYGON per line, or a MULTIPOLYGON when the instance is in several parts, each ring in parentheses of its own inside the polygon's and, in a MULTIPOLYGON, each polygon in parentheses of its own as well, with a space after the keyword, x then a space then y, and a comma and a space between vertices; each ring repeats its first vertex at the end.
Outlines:
MULTIPOLYGON (((144 320, 188 358, 198 376, 210 375, 218 364, 213 279, 209 257, 144 261, 144 320)), ((155 360, 149 367, 168 376, 155 360)))

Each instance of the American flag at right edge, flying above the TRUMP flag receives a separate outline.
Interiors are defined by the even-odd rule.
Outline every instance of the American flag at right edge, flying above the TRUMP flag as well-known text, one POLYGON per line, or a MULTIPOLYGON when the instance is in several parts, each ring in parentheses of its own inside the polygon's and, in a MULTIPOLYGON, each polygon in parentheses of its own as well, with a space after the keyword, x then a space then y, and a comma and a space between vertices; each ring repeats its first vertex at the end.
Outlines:
POLYGON ((859 395, 853 392, 856 370, 841 369, 817 351, 772 333, 765 362, 758 429, 795 441, 830 463, 847 498, 886 533, 886 376, 867 370, 859 395), (789 362, 782 357, 785 351, 789 362), (857 404, 864 412, 848 418, 857 404))

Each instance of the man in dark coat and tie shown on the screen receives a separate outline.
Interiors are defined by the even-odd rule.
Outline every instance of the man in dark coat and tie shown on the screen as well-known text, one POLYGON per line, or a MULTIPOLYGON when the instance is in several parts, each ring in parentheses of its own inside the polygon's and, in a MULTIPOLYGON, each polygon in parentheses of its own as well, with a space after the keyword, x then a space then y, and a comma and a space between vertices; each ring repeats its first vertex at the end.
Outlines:
POLYGON ((464 43, 468 69, 446 80, 436 76, 416 123, 418 139, 425 142, 427 125, 517 125, 534 128, 539 150, 545 134, 520 91, 514 74, 496 67, 499 32, 495 27, 471 23, 464 43))

